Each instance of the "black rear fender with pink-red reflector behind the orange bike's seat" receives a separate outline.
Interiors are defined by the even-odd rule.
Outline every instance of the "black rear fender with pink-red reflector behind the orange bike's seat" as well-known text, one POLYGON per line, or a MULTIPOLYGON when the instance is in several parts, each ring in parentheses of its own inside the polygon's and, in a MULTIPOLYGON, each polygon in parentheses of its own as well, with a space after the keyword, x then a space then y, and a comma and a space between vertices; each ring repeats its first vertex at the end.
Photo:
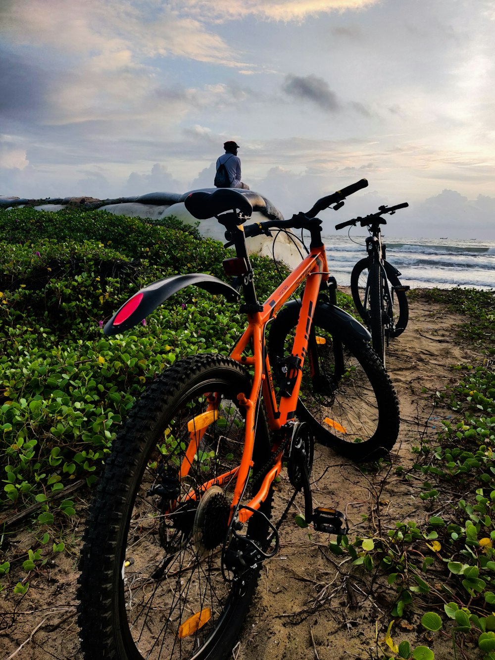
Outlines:
POLYGON ((148 284, 131 296, 105 325, 106 335, 116 335, 133 325, 141 323, 148 314, 156 310, 170 296, 173 296, 185 286, 199 286, 213 294, 224 295, 229 302, 239 302, 240 294, 230 284, 213 275, 205 273, 190 273, 189 275, 173 275, 148 284))

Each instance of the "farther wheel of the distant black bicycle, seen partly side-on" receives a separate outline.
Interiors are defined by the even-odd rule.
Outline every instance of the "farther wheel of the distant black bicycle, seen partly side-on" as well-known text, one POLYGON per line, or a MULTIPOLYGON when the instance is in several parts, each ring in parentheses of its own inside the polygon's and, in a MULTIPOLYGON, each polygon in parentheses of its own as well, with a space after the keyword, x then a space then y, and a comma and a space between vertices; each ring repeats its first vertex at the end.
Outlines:
MULTIPOLYGON (((367 258, 360 259, 360 261, 356 263, 350 275, 350 290, 358 314, 363 322, 369 326, 369 302, 366 300, 366 286, 369 273, 368 265, 369 261, 367 258)), ((392 324, 391 327, 389 327, 388 335, 389 337, 399 337, 399 335, 405 331, 407 322, 409 321, 407 296, 404 291, 396 291, 393 289, 394 286, 401 286, 399 278, 395 275, 395 268, 389 264, 388 261, 383 261, 383 267, 385 268, 387 280, 389 281, 392 302, 392 324)))

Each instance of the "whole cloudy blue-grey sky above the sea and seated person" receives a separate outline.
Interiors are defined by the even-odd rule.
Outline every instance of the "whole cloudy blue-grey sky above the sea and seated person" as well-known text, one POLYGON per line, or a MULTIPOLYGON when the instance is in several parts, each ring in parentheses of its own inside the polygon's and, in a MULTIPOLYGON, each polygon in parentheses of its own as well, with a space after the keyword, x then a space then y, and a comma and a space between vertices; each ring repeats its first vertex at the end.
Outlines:
POLYGON ((495 0, 0 0, 0 195, 213 185, 495 240, 495 0), (402 214, 402 215, 401 215, 402 214))

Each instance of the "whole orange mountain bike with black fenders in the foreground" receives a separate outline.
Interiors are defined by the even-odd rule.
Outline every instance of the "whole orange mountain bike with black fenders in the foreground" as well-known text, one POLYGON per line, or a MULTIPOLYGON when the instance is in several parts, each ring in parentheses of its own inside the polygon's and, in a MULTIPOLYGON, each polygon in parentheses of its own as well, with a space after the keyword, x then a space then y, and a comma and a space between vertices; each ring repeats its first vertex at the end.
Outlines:
MULTIPOLYGON (((218 189, 187 198, 195 217, 216 216, 226 228, 236 257, 224 266, 244 294, 248 325, 230 358, 197 355, 161 374, 114 441, 81 551, 86 658, 220 660, 236 643, 296 493, 304 494, 314 529, 347 532, 342 513, 313 509, 314 439, 362 461, 393 446, 399 409, 368 331, 335 304, 314 216, 366 185, 323 197, 290 220, 248 225, 253 208, 265 204, 255 193, 218 189), (308 230, 311 245, 261 304, 246 238, 272 228, 308 230), (285 465, 294 492, 273 521, 273 482, 285 465)), ((241 298, 215 277, 177 275, 132 296, 106 333, 141 323, 189 284, 241 298)))

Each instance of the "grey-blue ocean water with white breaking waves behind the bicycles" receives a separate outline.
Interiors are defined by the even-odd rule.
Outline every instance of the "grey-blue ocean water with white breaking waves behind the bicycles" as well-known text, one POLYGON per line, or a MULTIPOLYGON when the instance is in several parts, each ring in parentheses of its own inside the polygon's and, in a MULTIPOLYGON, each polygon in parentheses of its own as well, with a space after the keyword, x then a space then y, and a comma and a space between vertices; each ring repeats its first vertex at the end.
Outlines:
MULTIPOLYGON (((323 236, 331 274, 340 286, 350 284, 350 272, 366 257, 366 236, 323 236), (351 240, 352 239, 352 240, 351 240)), ((386 258, 411 288, 495 288, 495 241, 448 238, 387 238, 386 258)))

